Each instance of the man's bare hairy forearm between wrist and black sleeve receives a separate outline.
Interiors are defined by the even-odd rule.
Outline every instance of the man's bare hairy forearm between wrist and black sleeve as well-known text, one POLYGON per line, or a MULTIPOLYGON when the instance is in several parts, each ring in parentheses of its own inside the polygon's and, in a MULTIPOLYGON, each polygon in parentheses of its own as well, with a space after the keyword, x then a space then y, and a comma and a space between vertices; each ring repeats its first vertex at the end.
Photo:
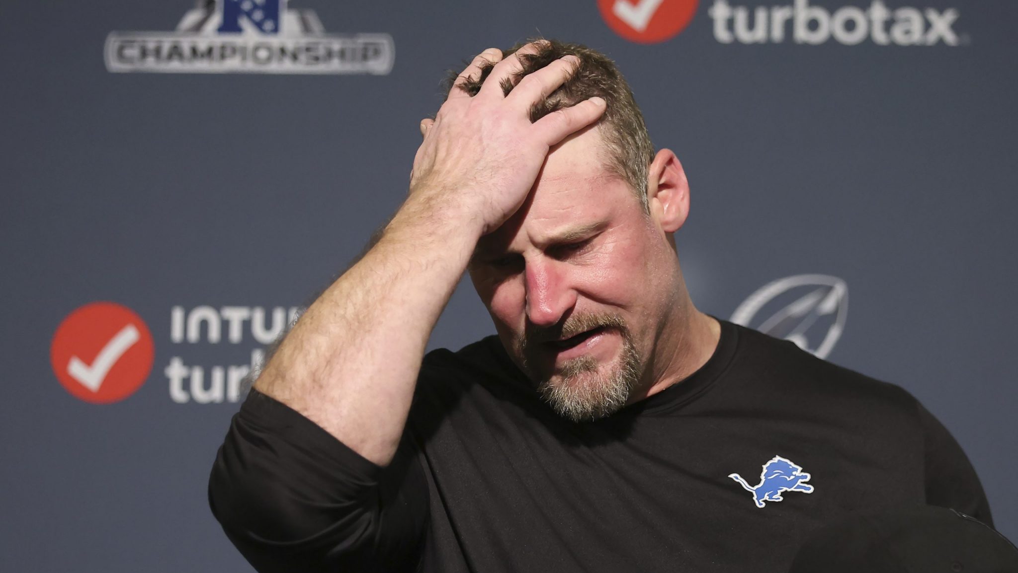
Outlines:
POLYGON ((312 304, 254 384, 386 465, 425 347, 479 229, 411 196, 379 242, 312 304))

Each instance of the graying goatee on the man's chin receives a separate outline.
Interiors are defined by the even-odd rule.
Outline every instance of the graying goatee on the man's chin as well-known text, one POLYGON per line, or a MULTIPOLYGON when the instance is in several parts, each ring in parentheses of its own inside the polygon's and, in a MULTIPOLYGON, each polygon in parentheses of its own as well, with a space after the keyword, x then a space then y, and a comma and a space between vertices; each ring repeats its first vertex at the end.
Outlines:
POLYGON ((538 393, 562 417, 579 422, 611 415, 626 405, 639 380, 639 353, 623 331, 619 363, 601 375, 598 360, 580 356, 566 362, 558 377, 538 384, 538 393))

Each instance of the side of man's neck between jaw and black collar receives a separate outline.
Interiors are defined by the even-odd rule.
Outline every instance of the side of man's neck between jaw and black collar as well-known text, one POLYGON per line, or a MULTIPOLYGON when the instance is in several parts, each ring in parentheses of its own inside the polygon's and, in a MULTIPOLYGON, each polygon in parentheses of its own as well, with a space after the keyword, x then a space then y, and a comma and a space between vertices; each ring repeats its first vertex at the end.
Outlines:
POLYGON ((718 348, 721 324, 693 306, 685 288, 676 293, 671 312, 654 341, 654 353, 639 388, 627 403, 638 402, 681 383, 698 370, 718 348))

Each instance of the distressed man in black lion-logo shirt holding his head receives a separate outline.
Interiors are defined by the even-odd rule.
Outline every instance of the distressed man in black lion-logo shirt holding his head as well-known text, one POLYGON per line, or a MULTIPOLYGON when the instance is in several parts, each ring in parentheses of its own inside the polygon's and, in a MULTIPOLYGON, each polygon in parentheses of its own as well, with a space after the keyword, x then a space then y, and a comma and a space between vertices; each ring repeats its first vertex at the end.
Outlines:
POLYGON ((854 510, 989 521, 906 392, 696 310, 686 176, 606 57, 486 50, 421 133, 220 450, 210 503, 256 569, 785 571, 854 510), (464 271, 498 337, 426 357, 464 271))

